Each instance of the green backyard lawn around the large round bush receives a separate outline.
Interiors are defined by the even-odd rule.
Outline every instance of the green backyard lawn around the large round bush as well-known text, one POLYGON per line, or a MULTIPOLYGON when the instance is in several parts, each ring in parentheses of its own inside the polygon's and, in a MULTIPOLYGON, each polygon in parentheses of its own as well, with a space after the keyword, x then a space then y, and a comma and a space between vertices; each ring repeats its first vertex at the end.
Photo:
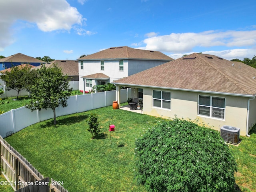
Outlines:
MULTIPOLYGON (((134 181, 134 141, 160 120, 112 107, 99 108, 79 114, 34 124, 6 138, 44 177, 63 181, 69 192, 138 191, 145 188, 134 181), (92 140, 86 130, 90 113, 98 114, 102 133, 92 140), (111 132, 110 124, 116 131, 111 132)), ((236 184, 238 192, 256 191, 256 132, 241 137, 241 144, 230 148, 238 163, 236 184)), ((1 188, 0 188, 1 190, 1 188)))

